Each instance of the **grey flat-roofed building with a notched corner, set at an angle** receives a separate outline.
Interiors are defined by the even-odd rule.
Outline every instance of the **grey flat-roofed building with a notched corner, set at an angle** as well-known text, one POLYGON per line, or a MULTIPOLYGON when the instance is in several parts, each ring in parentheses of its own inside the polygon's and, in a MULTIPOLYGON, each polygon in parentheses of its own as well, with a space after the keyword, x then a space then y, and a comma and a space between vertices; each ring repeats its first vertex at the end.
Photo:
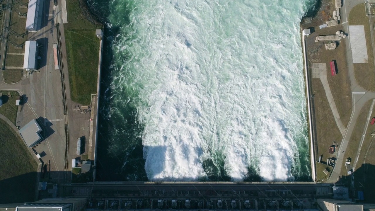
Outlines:
POLYGON ((42 140, 39 134, 41 131, 42 128, 40 128, 39 124, 33 119, 20 129, 20 134, 26 145, 28 147, 33 147, 42 140))

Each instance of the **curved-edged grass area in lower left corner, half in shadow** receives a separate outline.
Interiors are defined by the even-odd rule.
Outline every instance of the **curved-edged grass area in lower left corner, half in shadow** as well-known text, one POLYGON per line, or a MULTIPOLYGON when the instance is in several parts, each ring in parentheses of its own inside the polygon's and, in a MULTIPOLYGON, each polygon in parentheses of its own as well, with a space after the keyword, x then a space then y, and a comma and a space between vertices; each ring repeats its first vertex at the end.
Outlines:
POLYGON ((0 119, 0 203, 32 202, 37 163, 25 143, 0 119))

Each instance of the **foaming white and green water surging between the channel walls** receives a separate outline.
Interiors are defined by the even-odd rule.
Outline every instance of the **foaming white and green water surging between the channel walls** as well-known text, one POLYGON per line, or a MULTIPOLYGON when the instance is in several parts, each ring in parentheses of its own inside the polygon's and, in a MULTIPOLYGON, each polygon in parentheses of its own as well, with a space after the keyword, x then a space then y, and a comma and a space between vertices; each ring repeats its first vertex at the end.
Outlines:
POLYGON ((112 98, 136 109, 148 179, 202 179, 208 159, 234 181, 249 168, 264 181, 301 173, 309 155, 299 151, 308 146, 299 22, 309 3, 113 1, 112 98))

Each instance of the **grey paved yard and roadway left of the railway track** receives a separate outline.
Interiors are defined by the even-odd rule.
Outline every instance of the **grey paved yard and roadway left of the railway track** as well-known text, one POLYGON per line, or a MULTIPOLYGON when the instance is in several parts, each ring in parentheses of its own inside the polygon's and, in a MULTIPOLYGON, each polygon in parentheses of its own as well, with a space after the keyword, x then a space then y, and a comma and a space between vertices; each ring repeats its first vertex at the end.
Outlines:
MULTIPOLYGON (((40 72, 31 75, 24 74, 20 82, 6 84, 0 74, 0 90, 16 90, 27 99, 21 113, 17 115, 17 126, 23 127, 32 119, 43 128, 42 136, 45 137, 35 150, 45 152, 42 157, 44 163, 51 163, 51 177, 61 179, 60 170, 64 167, 65 158, 65 127, 62 108, 62 90, 60 73, 54 69, 53 44, 57 42, 53 1, 45 1, 43 8, 42 29, 28 33, 28 40, 37 41, 39 44, 38 61, 40 72)), ((68 77, 68 76, 67 76, 68 77)))

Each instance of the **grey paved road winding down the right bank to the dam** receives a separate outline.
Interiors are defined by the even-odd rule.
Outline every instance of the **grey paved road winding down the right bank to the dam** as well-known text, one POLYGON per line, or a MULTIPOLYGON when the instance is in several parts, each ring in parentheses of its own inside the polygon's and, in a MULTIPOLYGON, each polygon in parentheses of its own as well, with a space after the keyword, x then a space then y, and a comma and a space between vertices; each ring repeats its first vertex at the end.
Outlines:
MULTIPOLYGON (((341 17, 342 17, 341 23, 344 26, 345 33, 348 33, 349 36, 350 36, 350 32, 349 32, 348 15, 349 15, 350 10, 353 9, 354 6, 360 3, 363 3, 363 1, 344 0, 343 7, 340 10, 341 17)), ((346 40, 347 42, 350 42, 348 38, 346 38, 346 40)), ((328 179, 328 181, 331 181, 331 182, 337 181, 339 179, 339 176, 341 176, 341 168, 345 160, 345 151, 347 149, 348 143, 350 142, 351 135, 353 133, 354 127, 357 122, 357 118, 360 114, 360 111, 363 105, 369 100, 372 100, 375 98, 374 92, 369 92, 368 90, 365 90, 358 85, 357 80, 354 75, 353 57, 352 57, 350 45, 346 45, 346 47, 347 47, 347 66, 348 66, 349 77, 350 77, 350 84, 351 84, 350 87, 352 91, 353 109, 352 109, 352 114, 351 114, 349 124, 347 126, 347 130, 345 131, 344 137, 339 147, 339 152, 337 155, 338 160, 336 161, 336 165, 333 168, 330 178, 328 179)))

